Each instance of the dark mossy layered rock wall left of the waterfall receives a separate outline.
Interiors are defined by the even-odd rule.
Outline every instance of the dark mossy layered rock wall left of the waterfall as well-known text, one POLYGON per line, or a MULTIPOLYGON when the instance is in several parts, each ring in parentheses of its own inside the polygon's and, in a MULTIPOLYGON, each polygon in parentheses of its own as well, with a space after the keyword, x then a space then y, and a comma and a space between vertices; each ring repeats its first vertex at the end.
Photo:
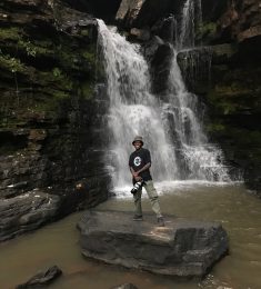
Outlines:
POLYGON ((96 20, 62 1, 4 0, 0 24, 0 202, 34 189, 59 198, 54 213, 7 239, 106 200, 110 177, 96 20))

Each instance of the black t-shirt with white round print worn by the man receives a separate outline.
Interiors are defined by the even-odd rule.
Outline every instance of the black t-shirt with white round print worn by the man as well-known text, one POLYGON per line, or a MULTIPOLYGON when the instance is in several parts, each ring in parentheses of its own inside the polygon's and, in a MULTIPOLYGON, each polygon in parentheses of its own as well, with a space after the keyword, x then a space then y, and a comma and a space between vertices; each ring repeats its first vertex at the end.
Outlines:
MULTIPOLYGON (((150 158, 150 151, 147 150, 147 149, 141 148, 139 150, 133 151, 130 155, 129 166, 134 171, 140 170, 148 162, 151 163, 151 158, 150 158)), ((149 169, 147 169, 147 170, 142 171, 141 173, 139 173, 139 177, 141 177, 144 181, 152 180, 149 169)))

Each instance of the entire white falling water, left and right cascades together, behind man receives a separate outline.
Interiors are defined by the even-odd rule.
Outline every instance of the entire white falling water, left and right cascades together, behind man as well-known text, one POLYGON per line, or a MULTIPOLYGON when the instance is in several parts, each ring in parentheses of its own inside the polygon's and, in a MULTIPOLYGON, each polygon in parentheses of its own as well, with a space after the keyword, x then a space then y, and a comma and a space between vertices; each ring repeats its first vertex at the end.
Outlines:
MULTIPOLYGON (((191 2, 188 0, 185 4, 191 7, 191 2)), ((183 9, 184 17, 189 17, 187 10, 183 9)), ((182 31, 194 29, 184 22, 182 31)), ((114 188, 130 183, 128 159, 135 134, 144 138, 145 147, 152 152, 154 180, 229 181, 222 152, 208 142, 202 131, 199 120, 202 111, 197 97, 185 89, 175 49, 168 96, 162 102, 150 92, 149 68, 140 47, 128 42, 116 28, 108 29, 102 20, 98 24, 110 99, 108 162, 113 168, 114 188)), ((191 32, 182 33, 187 38, 191 32)), ((180 43, 184 42, 180 39, 180 43)))

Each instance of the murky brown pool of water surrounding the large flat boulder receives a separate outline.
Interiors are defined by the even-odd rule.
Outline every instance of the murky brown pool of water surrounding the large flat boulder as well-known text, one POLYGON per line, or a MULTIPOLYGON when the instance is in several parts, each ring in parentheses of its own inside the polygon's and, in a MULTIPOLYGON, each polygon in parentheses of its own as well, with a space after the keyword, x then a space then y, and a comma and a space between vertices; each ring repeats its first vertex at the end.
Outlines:
MULTIPOLYGON (((178 282, 173 278, 128 270, 81 256, 76 223, 82 212, 0 245, 0 288, 13 288, 38 270, 59 266, 63 276, 49 288, 107 289, 132 282, 139 289, 259 289, 261 288, 261 200, 243 186, 183 185, 163 189, 164 213, 219 221, 230 238, 230 253, 207 278, 178 282)), ((99 210, 132 210, 130 198, 111 198, 99 210)), ((144 217, 151 211, 143 198, 144 217)))

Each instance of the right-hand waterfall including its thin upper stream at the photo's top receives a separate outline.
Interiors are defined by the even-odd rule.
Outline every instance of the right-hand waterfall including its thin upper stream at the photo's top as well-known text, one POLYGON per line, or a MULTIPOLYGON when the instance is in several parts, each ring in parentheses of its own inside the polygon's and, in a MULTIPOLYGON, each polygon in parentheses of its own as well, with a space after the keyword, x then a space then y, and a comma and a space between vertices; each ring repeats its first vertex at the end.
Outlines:
MULTIPOLYGON (((202 22, 201 0, 187 0, 182 9, 179 24, 180 37, 175 41, 178 50, 191 51, 195 44, 195 30, 202 22)), ((185 88, 177 62, 178 51, 173 47, 173 58, 169 77, 169 92, 164 103, 165 119, 169 126, 174 127, 173 141, 175 142, 177 159, 181 162, 182 179, 201 179, 210 181, 230 181, 228 169, 223 166, 223 153, 213 143, 210 143, 203 133, 203 109, 195 94, 185 88), (201 116, 201 118, 200 118, 201 116)), ((194 51, 194 50, 193 50, 194 51)), ((210 71, 211 54, 200 49, 205 56, 208 74, 210 71)), ((199 53, 198 53, 199 54, 199 53)), ((202 57, 201 57, 202 59, 202 57)), ((187 59, 188 60, 188 59, 187 59)), ((198 61, 199 62, 199 61, 198 61)), ((205 67, 203 63, 203 68, 205 67)), ((187 63, 190 66, 190 63, 187 63)), ((191 80, 195 80, 202 63, 195 62, 195 71, 189 70, 191 80)))

